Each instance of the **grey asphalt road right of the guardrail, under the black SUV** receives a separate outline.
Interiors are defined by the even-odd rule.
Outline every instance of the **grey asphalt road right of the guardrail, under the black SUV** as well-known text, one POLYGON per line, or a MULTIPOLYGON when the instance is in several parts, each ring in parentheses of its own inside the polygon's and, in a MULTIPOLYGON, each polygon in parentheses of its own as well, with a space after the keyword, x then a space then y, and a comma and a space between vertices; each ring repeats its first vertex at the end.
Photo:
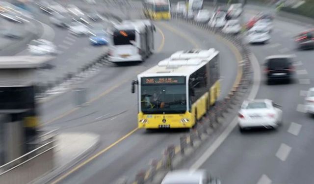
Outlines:
MULTIPOLYGON (((245 19, 256 13, 252 9, 245 19)), ((271 99, 283 106, 283 126, 278 130, 249 131, 237 127, 202 164, 223 184, 311 184, 313 183, 313 117, 304 113, 305 91, 313 87, 314 51, 297 51, 293 36, 308 25, 275 20, 271 41, 251 46, 259 63, 268 55, 295 54, 296 75, 293 83, 266 85, 262 76, 257 99, 271 99)), ((262 67, 261 67, 262 68, 262 67)), ((261 71, 262 72, 262 71, 261 71)), ((201 157, 198 154, 184 167, 201 157)))

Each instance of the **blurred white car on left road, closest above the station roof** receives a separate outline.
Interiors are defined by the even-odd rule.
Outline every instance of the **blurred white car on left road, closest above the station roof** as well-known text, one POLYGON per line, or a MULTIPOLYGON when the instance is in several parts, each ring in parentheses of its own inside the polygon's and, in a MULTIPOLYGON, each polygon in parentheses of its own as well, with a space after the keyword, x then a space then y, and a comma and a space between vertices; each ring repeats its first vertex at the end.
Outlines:
POLYGON ((28 51, 34 55, 56 54, 57 48, 52 42, 39 39, 28 44, 28 51))

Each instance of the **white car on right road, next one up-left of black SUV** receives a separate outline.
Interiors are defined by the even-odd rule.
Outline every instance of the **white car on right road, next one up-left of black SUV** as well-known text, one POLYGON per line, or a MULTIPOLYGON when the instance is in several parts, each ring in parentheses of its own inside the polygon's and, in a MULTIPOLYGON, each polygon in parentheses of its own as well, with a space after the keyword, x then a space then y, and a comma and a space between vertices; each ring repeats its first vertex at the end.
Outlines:
POLYGON ((246 38, 250 44, 265 44, 270 40, 270 33, 264 26, 254 26, 247 32, 246 38))

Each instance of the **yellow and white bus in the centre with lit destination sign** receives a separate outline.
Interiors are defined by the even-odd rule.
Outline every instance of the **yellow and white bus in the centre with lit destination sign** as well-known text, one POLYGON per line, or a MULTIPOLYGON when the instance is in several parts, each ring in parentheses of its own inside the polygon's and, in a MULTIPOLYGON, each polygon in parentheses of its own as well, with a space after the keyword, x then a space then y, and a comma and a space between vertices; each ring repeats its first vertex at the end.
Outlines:
POLYGON ((138 127, 192 128, 220 95, 219 52, 178 51, 139 74, 138 127))

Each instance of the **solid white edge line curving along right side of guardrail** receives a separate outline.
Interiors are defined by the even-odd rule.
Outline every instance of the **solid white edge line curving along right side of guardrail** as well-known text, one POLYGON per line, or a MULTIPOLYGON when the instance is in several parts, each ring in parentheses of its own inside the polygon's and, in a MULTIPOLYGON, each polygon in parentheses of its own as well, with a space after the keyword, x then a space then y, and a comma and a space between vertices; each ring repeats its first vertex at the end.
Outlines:
MULTIPOLYGON (((253 85, 248 99, 255 99, 261 84, 261 69, 259 61, 254 54, 250 55, 252 61, 253 73, 253 85)), ((237 125, 237 117, 228 125, 228 127, 218 136, 218 138, 209 146, 209 148, 204 152, 204 154, 195 161, 195 163, 190 167, 191 170, 196 170, 200 168, 204 162, 214 153, 214 151, 222 144, 222 142, 228 137, 232 130, 234 130, 237 125)))

